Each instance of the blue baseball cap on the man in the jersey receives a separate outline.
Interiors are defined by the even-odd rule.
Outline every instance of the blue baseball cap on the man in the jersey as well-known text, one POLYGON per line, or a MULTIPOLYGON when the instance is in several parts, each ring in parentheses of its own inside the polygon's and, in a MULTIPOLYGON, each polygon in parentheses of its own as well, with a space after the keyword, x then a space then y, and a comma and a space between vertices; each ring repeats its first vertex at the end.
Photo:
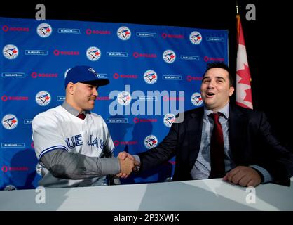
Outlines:
POLYGON ((88 65, 76 65, 67 71, 65 75, 65 89, 69 82, 93 84, 95 86, 104 86, 110 83, 109 79, 100 78, 100 75, 88 65))

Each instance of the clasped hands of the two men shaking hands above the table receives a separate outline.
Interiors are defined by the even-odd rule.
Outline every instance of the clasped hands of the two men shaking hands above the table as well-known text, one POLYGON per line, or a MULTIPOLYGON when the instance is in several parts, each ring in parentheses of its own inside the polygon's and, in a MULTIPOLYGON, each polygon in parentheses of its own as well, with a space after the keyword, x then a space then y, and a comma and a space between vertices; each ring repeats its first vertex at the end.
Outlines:
POLYGON ((116 176, 120 178, 127 178, 133 171, 137 171, 137 167, 140 165, 140 163, 135 160, 135 158, 126 153, 126 152, 121 152, 117 156, 119 163, 120 163, 120 173, 116 174, 116 176))

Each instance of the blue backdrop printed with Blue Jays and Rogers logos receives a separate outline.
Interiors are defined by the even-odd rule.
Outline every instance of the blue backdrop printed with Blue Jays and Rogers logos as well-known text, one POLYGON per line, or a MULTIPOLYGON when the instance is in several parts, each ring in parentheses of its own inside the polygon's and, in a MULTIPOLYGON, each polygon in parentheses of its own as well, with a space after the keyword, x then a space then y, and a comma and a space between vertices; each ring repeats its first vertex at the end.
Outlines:
MULTIPOLYGON (((110 85, 95 113, 116 146, 139 153, 163 140, 177 113, 202 105, 207 63, 228 63, 228 31, 187 27, 0 18, 0 189, 35 188, 41 179, 31 122, 64 101, 64 76, 90 65, 110 85)), ((175 160, 123 184, 168 181, 175 160)))

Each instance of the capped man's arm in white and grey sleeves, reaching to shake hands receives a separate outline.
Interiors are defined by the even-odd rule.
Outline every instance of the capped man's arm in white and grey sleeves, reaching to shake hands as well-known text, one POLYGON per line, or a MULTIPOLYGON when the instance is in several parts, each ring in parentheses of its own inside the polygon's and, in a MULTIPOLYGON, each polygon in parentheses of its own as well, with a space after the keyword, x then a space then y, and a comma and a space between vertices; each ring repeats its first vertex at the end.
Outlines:
MULTIPOLYGON (((123 172, 130 174, 134 163, 131 160, 121 161, 117 158, 97 158, 69 153, 58 122, 53 116, 44 113, 32 121, 33 140, 36 156, 53 176, 69 179, 85 179, 123 172), (46 121, 46 122, 44 122, 46 121)), ((111 152, 113 143, 110 137, 104 152, 111 152)))

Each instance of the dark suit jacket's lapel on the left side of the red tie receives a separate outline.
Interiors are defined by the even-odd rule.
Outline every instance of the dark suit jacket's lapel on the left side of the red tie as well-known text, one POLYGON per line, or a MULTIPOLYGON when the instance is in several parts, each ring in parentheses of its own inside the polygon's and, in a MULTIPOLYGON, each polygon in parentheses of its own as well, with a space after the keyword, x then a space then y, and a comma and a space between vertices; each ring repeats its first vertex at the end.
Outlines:
POLYGON ((189 141, 189 168, 191 169, 196 162, 200 149, 201 131, 203 127, 203 107, 191 113, 187 120, 187 134, 189 141))

